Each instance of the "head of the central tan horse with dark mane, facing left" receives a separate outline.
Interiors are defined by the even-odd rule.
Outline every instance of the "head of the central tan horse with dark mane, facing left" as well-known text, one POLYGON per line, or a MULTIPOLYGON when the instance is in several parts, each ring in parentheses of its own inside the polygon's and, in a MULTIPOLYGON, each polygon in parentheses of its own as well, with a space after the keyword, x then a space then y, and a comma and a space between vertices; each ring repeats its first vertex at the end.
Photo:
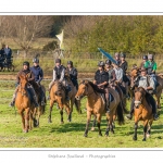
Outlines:
POLYGON ((83 97, 88 96, 89 93, 89 84, 88 80, 83 80, 78 86, 78 91, 75 96, 76 100, 80 100, 83 97))

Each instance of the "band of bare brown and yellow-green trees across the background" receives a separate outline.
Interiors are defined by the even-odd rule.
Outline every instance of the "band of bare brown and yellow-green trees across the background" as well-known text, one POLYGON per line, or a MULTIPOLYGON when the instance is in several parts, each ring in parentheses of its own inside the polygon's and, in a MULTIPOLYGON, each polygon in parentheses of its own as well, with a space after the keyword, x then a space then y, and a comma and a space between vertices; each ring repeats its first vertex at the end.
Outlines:
POLYGON ((64 50, 71 53, 123 51, 133 55, 163 52, 162 15, 1 15, 0 42, 12 38, 28 52, 40 37, 64 29, 64 50))

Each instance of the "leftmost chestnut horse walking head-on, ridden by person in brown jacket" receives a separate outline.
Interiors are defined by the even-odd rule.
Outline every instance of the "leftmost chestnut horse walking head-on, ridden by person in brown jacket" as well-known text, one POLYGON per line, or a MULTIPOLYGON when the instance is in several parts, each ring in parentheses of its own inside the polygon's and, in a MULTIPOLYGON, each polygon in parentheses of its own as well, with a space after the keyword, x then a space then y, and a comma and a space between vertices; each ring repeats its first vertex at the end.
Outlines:
POLYGON ((15 106, 17 108, 17 112, 22 117, 23 131, 28 133, 29 129, 36 126, 36 109, 30 101, 29 93, 27 91, 27 76, 20 75, 20 87, 15 99, 15 106), (25 114, 24 114, 25 112, 25 114))

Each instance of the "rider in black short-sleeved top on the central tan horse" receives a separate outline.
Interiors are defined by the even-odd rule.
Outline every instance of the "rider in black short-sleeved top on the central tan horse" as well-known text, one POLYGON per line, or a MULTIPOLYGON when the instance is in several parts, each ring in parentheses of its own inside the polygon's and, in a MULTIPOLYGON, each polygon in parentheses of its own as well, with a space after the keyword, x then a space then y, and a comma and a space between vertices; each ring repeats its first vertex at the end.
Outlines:
POLYGON ((109 100, 109 88, 108 88, 108 82, 109 82, 109 74, 104 71, 104 62, 100 61, 98 63, 98 71, 95 74, 95 80, 93 84, 97 85, 100 89, 104 89, 105 91, 105 110, 106 113, 110 113, 110 100, 109 100))

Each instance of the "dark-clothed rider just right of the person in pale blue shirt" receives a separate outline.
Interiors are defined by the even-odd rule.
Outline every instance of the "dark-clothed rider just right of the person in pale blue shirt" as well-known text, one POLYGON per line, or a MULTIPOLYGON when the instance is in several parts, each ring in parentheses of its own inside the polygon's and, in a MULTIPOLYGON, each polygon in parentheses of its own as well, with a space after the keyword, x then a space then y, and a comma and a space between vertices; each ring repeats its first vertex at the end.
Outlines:
POLYGON ((126 76, 126 71, 128 67, 128 63, 126 62, 126 54, 125 53, 121 53, 121 63, 120 63, 120 67, 123 70, 123 82, 122 82, 122 86, 126 89, 126 98, 128 98, 128 85, 129 85, 129 79, 126 76))

